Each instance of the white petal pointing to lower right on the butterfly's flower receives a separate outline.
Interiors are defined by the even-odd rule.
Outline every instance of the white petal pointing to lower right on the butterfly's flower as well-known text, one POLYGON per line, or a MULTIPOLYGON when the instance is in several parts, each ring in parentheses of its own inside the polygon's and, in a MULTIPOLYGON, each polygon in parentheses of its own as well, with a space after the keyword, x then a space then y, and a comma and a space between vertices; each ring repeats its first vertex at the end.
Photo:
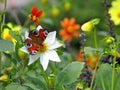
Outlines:
POLYGON ((49 59, 51 61, 56 61, 56 62, 61 61, 58 54, 57 54, 57 52, 55 50, 50 50, 50 51, 47 52, 47 54, 49 55, 49 59))

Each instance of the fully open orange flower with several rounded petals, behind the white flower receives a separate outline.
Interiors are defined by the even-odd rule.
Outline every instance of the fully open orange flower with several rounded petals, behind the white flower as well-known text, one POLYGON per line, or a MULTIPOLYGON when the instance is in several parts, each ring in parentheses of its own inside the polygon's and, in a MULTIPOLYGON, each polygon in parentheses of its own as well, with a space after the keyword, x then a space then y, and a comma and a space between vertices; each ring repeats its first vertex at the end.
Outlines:
POLYGON ((80 28, 79 24, 75 24, 75 18, 65 18, 61 21, 63 29, 60 30, 59 34, 62 36, 63 41, 72 41, 72 37, 78 37, 79 33, 77 30, 80 28))

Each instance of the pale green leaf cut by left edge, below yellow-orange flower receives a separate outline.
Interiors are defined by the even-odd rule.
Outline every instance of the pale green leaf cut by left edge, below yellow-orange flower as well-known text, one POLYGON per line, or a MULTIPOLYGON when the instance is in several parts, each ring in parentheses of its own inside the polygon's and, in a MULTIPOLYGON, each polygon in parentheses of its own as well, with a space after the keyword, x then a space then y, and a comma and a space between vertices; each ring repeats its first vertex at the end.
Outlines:
POLYGON ((0 51, 14 51, 14 44, 8 40, 0 39, 0 51))

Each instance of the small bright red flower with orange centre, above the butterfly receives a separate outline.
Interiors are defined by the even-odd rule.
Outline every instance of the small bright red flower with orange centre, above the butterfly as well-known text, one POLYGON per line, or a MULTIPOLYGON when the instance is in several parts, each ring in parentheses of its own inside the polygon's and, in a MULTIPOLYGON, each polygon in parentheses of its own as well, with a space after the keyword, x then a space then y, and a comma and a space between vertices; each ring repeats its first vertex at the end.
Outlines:
POLYGON ((37 7, 32 7, 30 19, 36 24, 39 25, 38 18, 42 15, 43 11, 38 11, 37 7))

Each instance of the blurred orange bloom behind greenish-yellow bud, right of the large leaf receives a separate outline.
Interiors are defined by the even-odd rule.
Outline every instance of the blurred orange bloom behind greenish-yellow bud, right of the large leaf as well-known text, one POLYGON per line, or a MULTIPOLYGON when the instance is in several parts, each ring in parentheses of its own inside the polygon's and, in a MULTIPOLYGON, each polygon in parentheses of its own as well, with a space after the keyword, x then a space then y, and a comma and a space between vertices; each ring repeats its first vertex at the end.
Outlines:
POLYGON ((98 63, 98 55, 93 55, 92 57, 88 58, 86 61, 86 64, 90 66, 91 68, 95 68, 95 66, 98 63))

